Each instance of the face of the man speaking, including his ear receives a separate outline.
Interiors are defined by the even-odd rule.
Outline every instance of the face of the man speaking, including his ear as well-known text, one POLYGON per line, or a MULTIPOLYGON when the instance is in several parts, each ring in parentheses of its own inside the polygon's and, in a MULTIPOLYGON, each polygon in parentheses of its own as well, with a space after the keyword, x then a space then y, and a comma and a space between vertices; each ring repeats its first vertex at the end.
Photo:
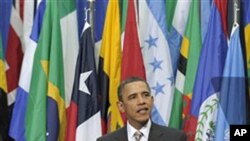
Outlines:
POLYGON ((145 82, 136 81, 125 85, 118 106, 121 112, 126 113, 129 123, 138 127, 150 118, 152 104, 153 97, 145 82))

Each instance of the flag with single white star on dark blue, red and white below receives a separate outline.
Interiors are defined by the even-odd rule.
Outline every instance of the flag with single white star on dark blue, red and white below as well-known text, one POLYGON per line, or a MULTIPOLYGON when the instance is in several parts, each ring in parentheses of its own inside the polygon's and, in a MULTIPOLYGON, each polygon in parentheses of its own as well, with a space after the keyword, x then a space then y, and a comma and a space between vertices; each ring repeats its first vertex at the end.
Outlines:
POLYGON ((98 86, 94 42, 88 23, 84 25, 69 107, 67 141, 94 141, 102 135, 98 108, 98 86))

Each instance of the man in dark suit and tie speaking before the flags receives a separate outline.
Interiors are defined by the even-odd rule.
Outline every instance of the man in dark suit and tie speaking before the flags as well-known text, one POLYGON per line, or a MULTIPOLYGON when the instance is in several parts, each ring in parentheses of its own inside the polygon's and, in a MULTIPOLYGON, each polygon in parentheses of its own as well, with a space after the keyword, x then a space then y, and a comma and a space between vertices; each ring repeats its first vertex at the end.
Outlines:
POLYGON ((150 119, 154 98, 148 83, 138 77, 124 80, 118 88, 119 110, 125 112, 127 125, 97 141, 185 141, 177 129, 160 126, 150 119))

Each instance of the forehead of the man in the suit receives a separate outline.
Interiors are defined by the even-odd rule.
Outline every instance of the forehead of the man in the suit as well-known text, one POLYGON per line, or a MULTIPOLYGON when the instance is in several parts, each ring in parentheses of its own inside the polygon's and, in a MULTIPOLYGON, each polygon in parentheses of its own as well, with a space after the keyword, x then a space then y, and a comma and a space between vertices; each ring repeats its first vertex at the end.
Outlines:
POLYGON ((149 92, 149 89, 147 87, 147 84, 143 81, 135 81, 128 83, 124 86, 125 93, 131 94, 131 93, 140 93, 140 92, 149 92))

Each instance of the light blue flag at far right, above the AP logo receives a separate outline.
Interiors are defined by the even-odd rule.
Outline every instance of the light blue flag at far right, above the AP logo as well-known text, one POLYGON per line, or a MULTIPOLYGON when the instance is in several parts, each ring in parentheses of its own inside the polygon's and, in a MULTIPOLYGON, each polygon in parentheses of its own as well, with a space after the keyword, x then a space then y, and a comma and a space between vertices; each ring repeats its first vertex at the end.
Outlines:
POLYGON ((229 125, 245 125, 246 80, 240 43, 239 25, 235 23, 223 71, 221 91, 218 94, 218 114, 215 141, 230 140, 229 125))

